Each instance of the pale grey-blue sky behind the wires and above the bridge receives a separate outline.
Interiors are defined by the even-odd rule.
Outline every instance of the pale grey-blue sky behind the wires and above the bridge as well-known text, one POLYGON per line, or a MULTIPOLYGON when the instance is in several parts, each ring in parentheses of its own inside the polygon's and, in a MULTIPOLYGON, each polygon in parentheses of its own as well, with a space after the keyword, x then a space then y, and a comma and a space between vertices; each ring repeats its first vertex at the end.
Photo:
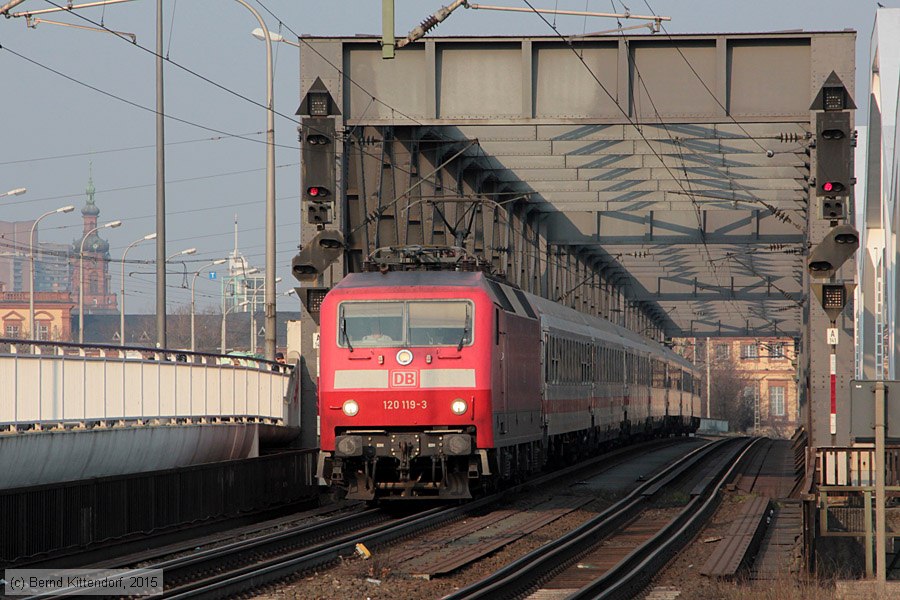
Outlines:
MULTIPOLYGON (((75 0, 75 4, 85 0, 75 0)), ((857 94, 865 106, 869 41, 876 3, 847 0, 529 0, 537 8, 592 10, 672 17, 669 33, 729 33, 785 30, 857 31, 857 94)), ((289 40, 299 35, 348 36, 381 31, 380 0, 248 0, 271 31, 289 40)), ((0 0, 0 5, 5 0, 0 0)), ((445 2, 397 0, 395 29, 403 36, 445 2)), ((888 7, 900 0, 882 0, 888 7)), ((483 4, 526 7, 524 0, 483 4)), ((61 0, 26 0, 12 12, 63 5, 61 0)), ((238 2, 165 0, 167 253, 196 247, 183 267, 196 270, 233 247, 250 263, 264 264, 265 44, 250 35, 258 27, 238 2)), ((123 249, 155 229, 155 23, 156 2, 135 0, 77 14, 40 15, 82 27, 133 33, 136 44, 105 31, 50 23, 26 27, 24 18, 0 19, 0 194, 26 187, 21 196, 0 198, 0 220, 37 217, 85 202, 92 174, 100 222, 122 220, 103 231, 110 242, 112 287, 118 291, 123 249), (84 18, 79 17, 81 15, 84 18)), ((553 22, 553 17, 548 17, 553 22)), ((610 19, 557 17, 563 34, 611 29, 610 19)), ((537 15, 458 9, 433 35, 550 35, 537 15)), ((300 52, 274 44, 277 272, 279 310, 295 310, 295 298, 280 296, 295 281, 290 260, 299 244, 298 117, 300 52)), ((861 123, 865 111, 857 114, 861 123)), ((40 224, 41 241, 71 243, 81 232, 81 214, 53 215, 40 224)), ((2 250, 2 249, 0 249, 2 250)), ((155 257, 153 242, 137 245, 128 260, 155 257)), ((182 268, 170 267, 170 272, 182 268)), ((153 265, 126 266, 128 312, 155 310, 153 265)), ((189 278, 170 274, 169 310, 189 302, 189 278)), ((198 283, 198 306, 218 305, 219 290, 198 283)))

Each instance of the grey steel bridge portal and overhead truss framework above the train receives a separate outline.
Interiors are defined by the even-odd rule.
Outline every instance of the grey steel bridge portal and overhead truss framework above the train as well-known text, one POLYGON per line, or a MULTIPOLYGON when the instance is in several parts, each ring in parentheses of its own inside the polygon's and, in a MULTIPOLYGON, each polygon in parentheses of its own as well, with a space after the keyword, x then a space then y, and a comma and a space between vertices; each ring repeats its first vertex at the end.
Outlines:
MULTIPOLYGON (((441 37, 392 61, 376 38, 303 37, 301 95, 320 78, 343 135, 334 223, 348 248, 317 283, 378 245, 462 229, 524 289, 657 339, 798 338, 812 443, 840 443, 828 436, 828 319, 808 301, 805 254, 829 224, 811 218, 807 140, 831 71, 854 89, 855 35, 580 37, 574 54, 555 37, 441 37)), ((301 240, 318 229, 304 223, 301 240)), ((853 321, 838 326, 846 389, 853 321)))

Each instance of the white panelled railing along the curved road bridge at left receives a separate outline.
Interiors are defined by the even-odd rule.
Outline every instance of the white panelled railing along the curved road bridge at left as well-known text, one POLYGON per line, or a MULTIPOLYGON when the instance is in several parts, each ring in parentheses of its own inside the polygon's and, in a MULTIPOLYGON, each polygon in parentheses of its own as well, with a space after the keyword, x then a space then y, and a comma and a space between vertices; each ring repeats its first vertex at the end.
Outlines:
POLYGON ((290 371, 253 357, 0 338, 0 430, 281 424, 290 371))

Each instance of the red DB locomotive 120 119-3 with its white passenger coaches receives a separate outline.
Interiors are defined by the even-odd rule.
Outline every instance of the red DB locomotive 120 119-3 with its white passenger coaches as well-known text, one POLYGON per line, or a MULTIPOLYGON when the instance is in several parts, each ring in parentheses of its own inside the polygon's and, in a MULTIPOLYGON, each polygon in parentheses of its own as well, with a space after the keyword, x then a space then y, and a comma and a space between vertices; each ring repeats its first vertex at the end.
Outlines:
POLYGON ((352 273, 319 316, 317 475, 349 499, 464 500, 699 425, 689 361, 482 271, 352 273))

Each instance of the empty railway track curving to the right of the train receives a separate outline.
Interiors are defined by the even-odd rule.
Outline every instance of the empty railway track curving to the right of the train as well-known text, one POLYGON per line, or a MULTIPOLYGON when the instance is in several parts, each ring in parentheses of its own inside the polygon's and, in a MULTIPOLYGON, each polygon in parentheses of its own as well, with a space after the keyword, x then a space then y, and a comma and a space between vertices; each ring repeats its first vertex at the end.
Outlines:
POLYGON ((723 440, 695 450, 594 519, 444 600, 522 597, 555 578, 557 593, 565 589, 566 598, 633 597, 706 522, 715 510, 718 490, 754 443, 723 440), (667 486, 703 466, 707 475, 683 508, 647 512, 650 501, 667 486), (611 540, 613 536, 618 539, 611 540), (620 560, 602 564, 600 555, 580 560, 603 540, 609 543, 602 555, 615 555, 618 547, 620 560))

